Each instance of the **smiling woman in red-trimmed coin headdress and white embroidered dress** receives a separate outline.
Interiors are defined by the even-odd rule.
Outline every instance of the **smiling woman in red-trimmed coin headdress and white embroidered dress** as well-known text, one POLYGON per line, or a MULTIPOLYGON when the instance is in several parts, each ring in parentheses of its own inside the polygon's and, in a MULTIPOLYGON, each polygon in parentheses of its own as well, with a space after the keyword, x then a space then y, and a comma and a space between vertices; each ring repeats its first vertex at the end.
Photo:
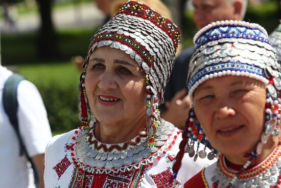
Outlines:
MULTIPOLYGON (((179 37, 169 19, 133 1, 97 31, 80 77, 83 126, 50 141, 45 187, 171 186, 181 131, 158 105, 179 37)), ((210 162, 203 158, 185 157, 176 186, 210 162)))

